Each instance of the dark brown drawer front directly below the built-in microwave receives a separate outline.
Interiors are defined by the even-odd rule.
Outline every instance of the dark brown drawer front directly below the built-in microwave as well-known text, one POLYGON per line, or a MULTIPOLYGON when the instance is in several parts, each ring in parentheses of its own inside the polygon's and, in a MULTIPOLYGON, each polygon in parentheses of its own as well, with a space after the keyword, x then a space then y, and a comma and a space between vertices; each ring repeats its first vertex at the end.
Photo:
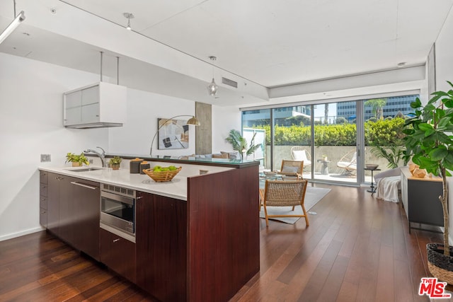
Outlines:
POLYGON ((100 230, 100 259, 123 277, 135 282, 135 243, 103 228, 100 230))

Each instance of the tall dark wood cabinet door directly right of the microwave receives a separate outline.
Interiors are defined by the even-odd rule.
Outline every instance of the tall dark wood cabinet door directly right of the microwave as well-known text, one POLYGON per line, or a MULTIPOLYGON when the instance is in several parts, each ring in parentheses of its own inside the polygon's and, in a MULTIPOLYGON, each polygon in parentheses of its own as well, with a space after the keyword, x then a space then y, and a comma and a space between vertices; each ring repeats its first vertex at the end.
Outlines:
POLYGON ((137 284, 161 301, 185 301, 187 203, 137 192, 137 284))

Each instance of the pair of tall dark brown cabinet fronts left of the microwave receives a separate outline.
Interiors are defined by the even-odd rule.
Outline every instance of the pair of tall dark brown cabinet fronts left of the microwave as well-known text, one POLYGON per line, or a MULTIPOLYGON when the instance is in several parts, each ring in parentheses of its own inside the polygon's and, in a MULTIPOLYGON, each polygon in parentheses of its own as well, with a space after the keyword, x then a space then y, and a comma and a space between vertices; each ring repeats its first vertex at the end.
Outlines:
POLYGON ((100 198, 98 182, 47 173, 47 230, 96 260, 100 198))

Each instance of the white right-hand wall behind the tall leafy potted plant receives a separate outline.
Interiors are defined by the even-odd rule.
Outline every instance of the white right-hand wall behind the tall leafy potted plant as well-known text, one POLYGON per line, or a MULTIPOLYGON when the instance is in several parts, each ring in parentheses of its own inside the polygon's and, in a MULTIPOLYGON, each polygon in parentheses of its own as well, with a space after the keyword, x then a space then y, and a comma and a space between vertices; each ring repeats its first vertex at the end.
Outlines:
MULTIPOLYGON (((451 86, 447 81, 453 81, 453 12, 450 11, 447 20, 435 42, 436 62, 436 91, 449 91, 451 86)), ((449 187, 449 209, 453 209, 453 179, 448 178, 449 187)), ((449 241, 453 245, 453 213, 449 216, 449 241)))

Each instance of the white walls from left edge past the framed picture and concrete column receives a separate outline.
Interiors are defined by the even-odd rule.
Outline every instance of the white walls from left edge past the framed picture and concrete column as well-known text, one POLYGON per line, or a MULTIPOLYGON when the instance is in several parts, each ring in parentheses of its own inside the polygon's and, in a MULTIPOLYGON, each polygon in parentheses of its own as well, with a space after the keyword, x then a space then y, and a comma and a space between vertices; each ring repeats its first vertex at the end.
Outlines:
MULTIPOLYGON (((62 93, 99 81, 89 74, 0 52, 0 240, 40 231, 40 166, 64 165, 67 152, 103 147, 109 153, 149 154, 158 117, 195 115, 195 102, 128 89, 124 127, 66 129, 62 125, 62 93), (51 155, 40 163, 40 154, 51 155)), ((181 117, 181 119, 190 117, 181 117)), ((240 129, 237 108, 212 106, 213 151, 229 151, 224 141, 230 129, 240 129)), ((190 127, 192 128, 192 127, 190 127)), ((190 129, 190 138, 195 130, 190 129)), ((155 152, 154 152, 155 151, 155 152)), ((189 155, 189 149, 153 154, 189 155)))

